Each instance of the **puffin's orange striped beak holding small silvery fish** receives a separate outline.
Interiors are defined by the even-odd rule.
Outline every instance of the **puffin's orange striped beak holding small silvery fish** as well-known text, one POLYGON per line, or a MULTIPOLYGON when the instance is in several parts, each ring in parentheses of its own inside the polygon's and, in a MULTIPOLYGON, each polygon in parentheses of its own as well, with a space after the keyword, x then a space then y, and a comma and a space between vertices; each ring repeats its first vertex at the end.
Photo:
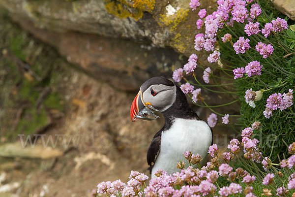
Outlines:
POLYGON ((150 103, 146 103, 143 99, 143 93, 139 91, 131 104, 130 117, 132 122, 138 120, 155 120, 159 118, 159 116, 154 114, 154 111, 158 110, 150 103))

